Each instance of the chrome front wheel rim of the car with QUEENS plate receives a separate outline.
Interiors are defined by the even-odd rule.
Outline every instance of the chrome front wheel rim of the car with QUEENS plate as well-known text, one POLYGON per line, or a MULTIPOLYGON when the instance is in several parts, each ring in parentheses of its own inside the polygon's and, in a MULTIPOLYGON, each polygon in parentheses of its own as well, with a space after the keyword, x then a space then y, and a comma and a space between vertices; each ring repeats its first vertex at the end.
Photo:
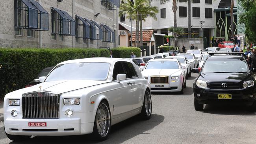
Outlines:
POLYGON ((100 104, 96 113, 96 125, 100 136, 105 137, 110 127, 110 115, 108 106, 104 103, 100 104))

